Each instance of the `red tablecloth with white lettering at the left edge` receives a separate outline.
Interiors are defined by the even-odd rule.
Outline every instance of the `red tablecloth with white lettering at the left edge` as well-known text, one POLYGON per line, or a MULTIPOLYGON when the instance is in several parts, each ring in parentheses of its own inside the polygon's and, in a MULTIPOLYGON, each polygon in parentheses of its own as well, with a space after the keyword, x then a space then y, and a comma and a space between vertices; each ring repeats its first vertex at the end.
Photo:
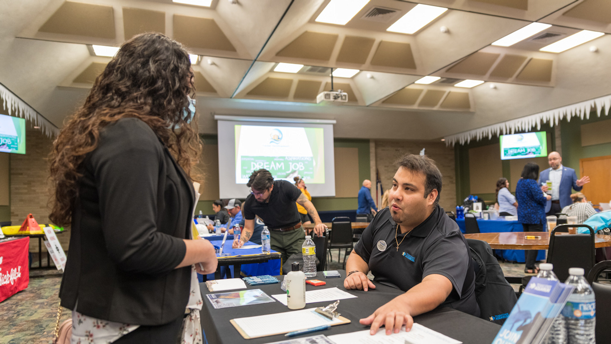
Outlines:
POLYGON ((0 242, 0 302, 27 288, 29 237, 0 242))

